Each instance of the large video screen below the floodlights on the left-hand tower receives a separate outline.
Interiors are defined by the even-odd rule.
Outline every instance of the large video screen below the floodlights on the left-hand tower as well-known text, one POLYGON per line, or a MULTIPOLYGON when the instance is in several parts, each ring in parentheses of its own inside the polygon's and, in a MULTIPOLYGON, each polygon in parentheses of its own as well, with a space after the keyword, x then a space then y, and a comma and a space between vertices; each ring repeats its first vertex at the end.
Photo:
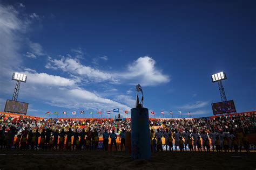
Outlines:
POLYGON ((4 111, 14 112, 18 114, 26 114, 26 111, 28 110, 28 106, 29 106, 29 103, 7 100, 4 111))

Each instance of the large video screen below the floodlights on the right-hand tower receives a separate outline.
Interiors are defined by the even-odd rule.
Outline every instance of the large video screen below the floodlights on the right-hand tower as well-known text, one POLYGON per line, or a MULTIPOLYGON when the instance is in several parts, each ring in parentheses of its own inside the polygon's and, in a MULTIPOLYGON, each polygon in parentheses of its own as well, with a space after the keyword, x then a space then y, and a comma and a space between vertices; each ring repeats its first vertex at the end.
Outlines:
POLYGON ((226 102, 212 103, 212 111, 213 115, 236 112, 234 101, 232 100, 226 102))

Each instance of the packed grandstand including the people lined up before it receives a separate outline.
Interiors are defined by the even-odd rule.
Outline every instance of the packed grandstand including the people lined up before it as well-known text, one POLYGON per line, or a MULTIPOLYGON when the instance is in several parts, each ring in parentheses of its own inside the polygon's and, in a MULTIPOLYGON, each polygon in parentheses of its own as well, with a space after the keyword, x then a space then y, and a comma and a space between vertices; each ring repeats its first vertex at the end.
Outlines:
MULTIPOLYGON (((151 149, 154 152, 192 147, 191 151, 198 151, 201 147, 205 151, 249 151, 250 144, 255 145, 255 135, 251 135, 256 133, 255 116, 256 111, 188 119, 150 118, 151 149)), ((112 144, 119 146, 121 141, 128 146, 130 131, 129 118, 56 119, 0 112, 2 149, 97 150, 109 147, 108 144, 111 148, 112 144)))

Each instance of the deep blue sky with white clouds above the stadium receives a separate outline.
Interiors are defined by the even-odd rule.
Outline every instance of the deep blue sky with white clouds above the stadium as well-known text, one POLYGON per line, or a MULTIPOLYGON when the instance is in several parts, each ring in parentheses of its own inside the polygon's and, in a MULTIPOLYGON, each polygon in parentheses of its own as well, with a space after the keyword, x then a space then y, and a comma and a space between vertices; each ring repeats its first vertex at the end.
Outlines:
POLYGON ((227 99, 255 110, 255 16, 253 1, 0 1, 0 108, 21 72, 32 116, 123 114, 137 83, 156 117, 211 116, 224 71, 227 99))

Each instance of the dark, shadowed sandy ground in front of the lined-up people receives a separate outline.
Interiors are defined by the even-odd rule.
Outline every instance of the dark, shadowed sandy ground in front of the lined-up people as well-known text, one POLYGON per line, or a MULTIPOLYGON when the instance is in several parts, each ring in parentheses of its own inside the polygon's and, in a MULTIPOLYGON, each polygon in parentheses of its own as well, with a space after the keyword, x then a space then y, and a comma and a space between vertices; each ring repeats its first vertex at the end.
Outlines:
POLYGON ((0 169, 254 169, 256 153, 159 152, 132 160, 125 152, 3 151, 0 169))

